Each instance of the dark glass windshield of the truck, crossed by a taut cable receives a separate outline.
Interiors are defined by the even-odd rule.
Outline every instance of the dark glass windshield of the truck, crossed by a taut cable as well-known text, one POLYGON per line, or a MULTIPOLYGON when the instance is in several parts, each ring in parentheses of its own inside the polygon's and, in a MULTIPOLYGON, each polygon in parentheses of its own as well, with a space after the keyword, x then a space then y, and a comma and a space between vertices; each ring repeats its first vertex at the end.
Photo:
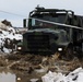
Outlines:
POLYGON ((59 14, 56 16, 52 15, 42 15, 42 16, 33 16, 31 25, 33 28, 40 27, 40 28, 56 28, 57 26, 50 22, 62 23, 66 22, 66 14, 59 14))

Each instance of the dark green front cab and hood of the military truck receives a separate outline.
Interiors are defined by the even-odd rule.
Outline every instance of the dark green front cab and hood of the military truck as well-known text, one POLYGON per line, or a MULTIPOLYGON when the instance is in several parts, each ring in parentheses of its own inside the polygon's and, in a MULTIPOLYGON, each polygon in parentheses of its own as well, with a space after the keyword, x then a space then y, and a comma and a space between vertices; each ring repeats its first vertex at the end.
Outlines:
POLYGON ((70 10, 37 7, 29 12, 28 31, 23 34, 21 49, 25 52, 36 54, 63 51, 72 43, 72 28, 63 26, 63 24, 72 25, 73 15, 73 11, 70 10))

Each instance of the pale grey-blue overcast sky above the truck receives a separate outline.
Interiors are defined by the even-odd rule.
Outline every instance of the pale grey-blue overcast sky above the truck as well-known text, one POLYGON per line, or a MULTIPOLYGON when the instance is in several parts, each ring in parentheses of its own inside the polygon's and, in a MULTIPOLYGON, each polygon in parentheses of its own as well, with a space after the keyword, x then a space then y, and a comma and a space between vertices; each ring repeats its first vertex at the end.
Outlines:
POLYGON ((83 15, 83 0, 0 0, 0 21, 9 20, 13 26, 23 26, 22 20, 28 17, 28 13, 37 4, 51 9, 73 10, 75 14, 83 15), (20 15, 3 13, 7 11, 20 15))

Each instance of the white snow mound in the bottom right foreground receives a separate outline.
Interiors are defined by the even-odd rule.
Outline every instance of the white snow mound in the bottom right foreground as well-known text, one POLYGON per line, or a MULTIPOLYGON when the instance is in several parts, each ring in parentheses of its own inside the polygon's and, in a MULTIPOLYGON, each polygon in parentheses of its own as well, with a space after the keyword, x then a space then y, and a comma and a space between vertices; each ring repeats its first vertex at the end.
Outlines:
POLYGON ((68 75, 49 71, 42 77, 42 80, 43 82, 83 82, 83 69, 80 67, 68 75))

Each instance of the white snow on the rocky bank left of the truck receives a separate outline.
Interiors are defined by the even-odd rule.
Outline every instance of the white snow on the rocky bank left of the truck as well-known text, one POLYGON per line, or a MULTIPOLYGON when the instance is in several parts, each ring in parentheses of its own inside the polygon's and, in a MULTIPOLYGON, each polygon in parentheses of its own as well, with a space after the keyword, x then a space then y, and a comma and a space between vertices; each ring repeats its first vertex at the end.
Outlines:
POLYGON ((15 30, 10 26, 1 27, 3 24, 0 25, 0 51, 3 52, 11 52, 12 49, 9 49, 4 46, 5 40, 8 39, 8 44, 11 44, 10 42, 15 40, 22 40, 22 34, 16 34, 15 30))

